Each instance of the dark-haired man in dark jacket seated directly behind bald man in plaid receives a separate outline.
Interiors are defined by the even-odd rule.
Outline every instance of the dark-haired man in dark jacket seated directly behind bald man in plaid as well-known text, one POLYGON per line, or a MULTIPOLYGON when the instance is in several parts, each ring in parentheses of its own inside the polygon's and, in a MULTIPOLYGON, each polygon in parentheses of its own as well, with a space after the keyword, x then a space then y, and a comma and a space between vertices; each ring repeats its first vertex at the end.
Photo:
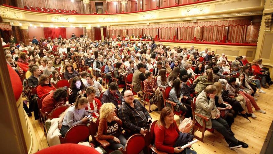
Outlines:
POLYGON ((121 106, 124 102, 124 98, 119 92, 119 86, 115 82, 111 82, 109 84, 109 88, 103 93, 101 98, 101 103, 113 103, 117 109, 121 106))

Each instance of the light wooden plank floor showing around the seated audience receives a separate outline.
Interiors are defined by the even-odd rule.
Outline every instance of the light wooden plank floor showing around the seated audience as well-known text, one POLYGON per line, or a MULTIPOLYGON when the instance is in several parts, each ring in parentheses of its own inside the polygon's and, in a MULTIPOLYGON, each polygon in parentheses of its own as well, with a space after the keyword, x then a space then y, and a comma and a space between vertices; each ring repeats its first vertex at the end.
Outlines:
MULTIPOLYGON (((273 86, 269 89, 264 89, 264 91, 266 91, 266 94, 258 93, 260 96, 256 97, 258 98, 257 104, 262 110, 266 111, 266 114, 255 112, 255 109, 253 108, 257 118, 250 118, 252 123, 241 116, 237 116, 231 127, 232 131, 235 133, 235 138, 246 142, 249 146, 248 148, 230 150, 228 144, 220 133, 217 131, 214 133, 206 131, 204 143, 198 141, 192 146, 195 151, 198 154, 259 154, 273 119, 273 86)), ((140 99, 138 97, 135 98, 140 99)), ((152 109, 154 110, 155 106, 152 106, 152 109)), ((154 111, 150 114, 153 120, 159 119, 160 114, 158 112, 154 111)), ((177 121, 177 124, 180 124, 177 115, 175 115, 175 120, 177 121)), ((41 150, 48 147, 42 125, 38 120, 34 120, 34 116, 30 118, 30 121, 39 143, 38 149, 41 150)), ((199 132, 196 132, 196 134, 201 135, 199 132)))

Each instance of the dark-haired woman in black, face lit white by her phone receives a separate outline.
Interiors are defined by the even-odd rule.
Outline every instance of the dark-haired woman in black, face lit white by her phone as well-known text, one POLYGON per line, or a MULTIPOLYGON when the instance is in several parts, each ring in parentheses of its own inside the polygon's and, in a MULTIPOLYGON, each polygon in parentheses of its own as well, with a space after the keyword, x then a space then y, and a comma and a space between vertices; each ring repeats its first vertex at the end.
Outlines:
POLYGON ((74 77, 69 88, 72 90, 72 94, 68 97, 69 104, 74 103, 78 95, 83 95, 86 93, 80 77, 74 77))

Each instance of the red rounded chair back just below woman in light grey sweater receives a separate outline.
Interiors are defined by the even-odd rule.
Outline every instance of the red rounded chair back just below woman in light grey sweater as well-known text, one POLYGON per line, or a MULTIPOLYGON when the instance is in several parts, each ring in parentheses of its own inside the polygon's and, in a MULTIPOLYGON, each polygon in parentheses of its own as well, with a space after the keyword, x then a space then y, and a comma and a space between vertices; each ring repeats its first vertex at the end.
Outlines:
POLYGON ((78 124, 71 127, 65 134, 64 143, 85 142, 89 140, 89 128, 85 124, 78 124))

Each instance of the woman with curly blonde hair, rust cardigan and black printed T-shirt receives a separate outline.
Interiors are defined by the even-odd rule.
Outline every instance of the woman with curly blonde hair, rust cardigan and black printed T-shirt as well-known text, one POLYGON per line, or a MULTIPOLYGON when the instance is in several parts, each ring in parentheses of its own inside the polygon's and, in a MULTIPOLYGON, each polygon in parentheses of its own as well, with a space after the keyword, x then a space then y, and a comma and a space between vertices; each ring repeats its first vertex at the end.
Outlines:
POLYGON ((120 147, 125 149, 127 140, 119 129, 122 126, 122 121, 115 114, 115 107, 113 103, 104 103, 101 106, 98 138, 107 140, 113 150, 120 147))

